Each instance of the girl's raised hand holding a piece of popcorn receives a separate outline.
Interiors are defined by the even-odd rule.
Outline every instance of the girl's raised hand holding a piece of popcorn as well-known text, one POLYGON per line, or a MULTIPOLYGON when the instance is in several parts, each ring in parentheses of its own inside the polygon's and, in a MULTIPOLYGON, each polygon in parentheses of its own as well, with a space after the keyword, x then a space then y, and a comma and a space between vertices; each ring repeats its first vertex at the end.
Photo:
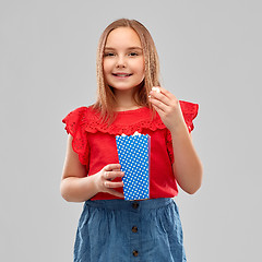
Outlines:
POLYGON ((158 112, 167 129, 171 131, 184 126, 186 123, 183 121, 182 111, 177 97, 160 86, 155 87, 158 87, 160 93, 151 91, 150 102, 158 112))

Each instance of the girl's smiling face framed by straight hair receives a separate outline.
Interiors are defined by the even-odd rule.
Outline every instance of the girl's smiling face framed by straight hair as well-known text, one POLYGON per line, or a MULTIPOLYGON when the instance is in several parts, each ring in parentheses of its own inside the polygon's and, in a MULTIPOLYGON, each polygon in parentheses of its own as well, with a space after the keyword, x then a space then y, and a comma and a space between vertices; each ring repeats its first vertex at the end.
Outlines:
POLYGON ((131 90, 144 80, 144 56, 140 38, 130 27, 108 35, 104 52, 104 76, 118 91, 131 90))

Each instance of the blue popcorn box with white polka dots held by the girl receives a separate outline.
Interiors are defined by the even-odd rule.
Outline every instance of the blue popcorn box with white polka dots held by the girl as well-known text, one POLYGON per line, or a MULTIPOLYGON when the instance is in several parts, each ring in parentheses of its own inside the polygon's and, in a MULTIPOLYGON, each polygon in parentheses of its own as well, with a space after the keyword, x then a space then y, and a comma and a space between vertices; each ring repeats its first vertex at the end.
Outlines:
POLYGON ((124 171, 124 200, 150 199, 151 136, 135 132, 133 135, 117 135, 118 158, 124 171))

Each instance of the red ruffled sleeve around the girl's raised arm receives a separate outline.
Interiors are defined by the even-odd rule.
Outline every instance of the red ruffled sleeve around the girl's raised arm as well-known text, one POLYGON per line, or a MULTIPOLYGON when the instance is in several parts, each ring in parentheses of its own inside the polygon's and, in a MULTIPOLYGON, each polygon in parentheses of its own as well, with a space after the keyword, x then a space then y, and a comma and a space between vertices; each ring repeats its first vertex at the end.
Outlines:
MULTIPOLYGON (((194 129, 193 119, 198 116, 199 112, 199 105, 190 102, 180 100, 180 107, 182 110, 184 122, 188 127, 189 132, 194 129)), ((171 133, 167 129, 166 133, 166 144, 167 144, 167 152, 170 158, 170 163, 174 164, 174 152, 172 152, 172 140, 171 133)))

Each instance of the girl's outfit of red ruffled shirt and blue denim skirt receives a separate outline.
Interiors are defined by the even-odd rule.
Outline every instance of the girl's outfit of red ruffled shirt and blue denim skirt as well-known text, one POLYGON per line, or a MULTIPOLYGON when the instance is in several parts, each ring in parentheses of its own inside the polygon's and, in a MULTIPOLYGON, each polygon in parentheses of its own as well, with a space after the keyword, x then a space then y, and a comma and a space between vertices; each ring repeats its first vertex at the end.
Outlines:
MULTIPOLYGON (((194 129, 193 119, 198 115, 199 105, 182 100, 179 103, 184 122, 191 132, 194 129)), ((87 200, 78 228, 74 261, 123 262, 136 261, 136 257, 140 257, 139 261, 151 261, 148 258, 152 258, 152 261, 157 261, 157 258, 159 261, 186 261, 178 207, 171 200, 178 194, 176 174, 172 171, 172 164, 176 159, 171 133, 163 123, 159 115, 156 112, 155 118, 152 119, 152 112, 147 107, 118 111, 116 120, 107 127, 100 123, 98 112, 92 110, 91 107, 80 107, 71 111, 62 121, 66 123, 67 132, 73 136, 73 151, 78 153, 81 164, 86 166, 87 176, 95 175, 108 164, 119 163, 116 135, 122 133, 131 135, 138 131, 151 136, 150 200, 124 201, 103 192, 87 200), (138 209, 135 203, 139 205, 138 209), (91 214, 94 209, 96 217, 94 213, 91 214), (103 209, 107 209, 108 212, 102 212, 103 209), (156 224, 152 222, 153 217, 156 224), (109 224, 102 226, 106 223, 105 219, 109 224), (165 225, 162 225, 163 223, 165 225), (104 239, 104 233, 99 231, 99 229, 104 230, 102 227, 106 231, 110 230, 108 231, 110 237, 106 236, 107 240, 104 239), (131 228, 124 235, 121 230, 119 231, 119 227, 131 228), (132 230, 132 228, 136 229, 132 230), (152 230, 156 231, 153 234, 152 230), (97 238, 95 242, 90 239, 91 235, 97 238), (121 248, 115 247, 116 242, 119 242, 121 248), (110 245, 110 250, 105 246, 104 254, 95 248, 95 245, 100 245, 98 248, 103 249, 103 243, 110 245)), ((122 188, 115 190, 122 192, 122 188)))

